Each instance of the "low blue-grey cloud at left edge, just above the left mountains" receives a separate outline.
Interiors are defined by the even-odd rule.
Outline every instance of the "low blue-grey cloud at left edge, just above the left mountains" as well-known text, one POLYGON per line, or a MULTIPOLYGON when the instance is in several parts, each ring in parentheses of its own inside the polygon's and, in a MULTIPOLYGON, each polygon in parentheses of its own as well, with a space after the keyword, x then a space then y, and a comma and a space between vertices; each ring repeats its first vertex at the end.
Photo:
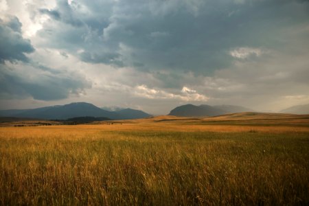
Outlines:
POLYGON ((0 65, 0 98, 62 100, 79 95, 91 83, 78 73, 55 71, 43 65, 0 65))

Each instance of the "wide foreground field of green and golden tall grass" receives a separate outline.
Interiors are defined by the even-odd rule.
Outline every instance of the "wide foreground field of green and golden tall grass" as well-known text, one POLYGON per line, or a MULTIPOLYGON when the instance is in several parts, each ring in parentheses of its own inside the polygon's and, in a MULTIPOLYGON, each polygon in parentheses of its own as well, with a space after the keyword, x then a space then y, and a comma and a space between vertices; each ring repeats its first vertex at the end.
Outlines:
POLYGON ((309 133, 0 128, 1 205, 308 205, 309 133))

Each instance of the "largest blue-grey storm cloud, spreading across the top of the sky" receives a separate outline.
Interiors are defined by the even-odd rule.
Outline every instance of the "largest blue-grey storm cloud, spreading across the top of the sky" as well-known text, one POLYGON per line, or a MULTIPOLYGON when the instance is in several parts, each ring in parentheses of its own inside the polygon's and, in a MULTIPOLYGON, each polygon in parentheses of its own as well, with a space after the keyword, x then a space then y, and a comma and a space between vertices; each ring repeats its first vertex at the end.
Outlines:
POLYGON ((40 35, 85 62, 211 75, 233 64, 235 47, 286 47, 283 30, 307 23, 308 8, 279 0, 58 1, 53 12, 61 20, 46 23, 40 35), (64 26, 74 22, 80 27, 64 26))

